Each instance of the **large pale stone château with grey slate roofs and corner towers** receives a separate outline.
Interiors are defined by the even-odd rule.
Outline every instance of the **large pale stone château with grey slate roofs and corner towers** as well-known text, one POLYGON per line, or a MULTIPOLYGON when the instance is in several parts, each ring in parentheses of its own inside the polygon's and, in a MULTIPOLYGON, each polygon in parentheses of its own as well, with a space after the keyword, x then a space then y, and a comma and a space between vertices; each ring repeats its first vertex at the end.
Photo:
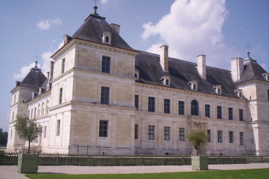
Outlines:
POLYGON ((269 155, 269 73, 249 52, 229 71, 206 66, 206 55, 170 58, 166 45, 135 50, 94 9, 64 35, 47 76, 36 65, 16 81, 7 149, 27 146, 14 128, 26 114, 42 126, 31 147, 42 152, 191 154, 187 133, 205 129, 204 154, 269 155))

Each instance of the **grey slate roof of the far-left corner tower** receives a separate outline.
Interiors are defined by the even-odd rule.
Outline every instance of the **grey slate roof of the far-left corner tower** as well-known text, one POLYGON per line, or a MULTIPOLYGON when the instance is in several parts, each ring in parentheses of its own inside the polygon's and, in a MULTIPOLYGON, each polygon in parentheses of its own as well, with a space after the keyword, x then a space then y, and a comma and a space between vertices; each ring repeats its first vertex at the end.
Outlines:
POLYGON ((18 85, 20 87, 39 88, 46 81, 46 76, 39 68, 31 68, 30 72, 23 78, 22 82, 18 85))

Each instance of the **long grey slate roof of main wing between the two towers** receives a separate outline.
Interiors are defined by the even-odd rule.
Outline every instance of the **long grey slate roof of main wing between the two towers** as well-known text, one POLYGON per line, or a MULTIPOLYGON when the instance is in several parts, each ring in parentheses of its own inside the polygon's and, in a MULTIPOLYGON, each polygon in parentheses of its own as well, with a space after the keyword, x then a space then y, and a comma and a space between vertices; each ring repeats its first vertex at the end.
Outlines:
POLYGON ((160 80, 162 76, 170 76, 170 87, 192 90, 189 82, 198 82, 198 92, 217 94, 213 89, 215 85, 221 85, 222 94, 234 98, 239 98, 234 90, 238 89, 232 79, 231 72, 215 67, 206 67, 207 79, 203 80, 197 71, 197 64, 175 58, 169 58, 169 73, 163 72, 160 64, 160 55, 140 52, 135 57, 135 69, 139 70, 139 80, 137 82, 165 86, 160 80))

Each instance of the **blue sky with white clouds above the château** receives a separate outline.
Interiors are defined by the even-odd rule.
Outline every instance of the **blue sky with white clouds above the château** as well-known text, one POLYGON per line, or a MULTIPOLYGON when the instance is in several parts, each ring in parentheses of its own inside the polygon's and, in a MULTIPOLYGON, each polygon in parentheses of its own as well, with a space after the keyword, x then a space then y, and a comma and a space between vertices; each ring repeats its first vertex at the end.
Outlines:
MULTIPOLYGON (((0 1, 0 128, 7 130, 11 93, 34 67, 46 73, 49 58, 94 12, 90 0, 0 1)), ((207 55, 209 66, 230 70, 230 59, 250 57, 269 69, 268 0, 101 0, 97 13, 119 24, 120 36, 134 49, 196 62, 207 55)))

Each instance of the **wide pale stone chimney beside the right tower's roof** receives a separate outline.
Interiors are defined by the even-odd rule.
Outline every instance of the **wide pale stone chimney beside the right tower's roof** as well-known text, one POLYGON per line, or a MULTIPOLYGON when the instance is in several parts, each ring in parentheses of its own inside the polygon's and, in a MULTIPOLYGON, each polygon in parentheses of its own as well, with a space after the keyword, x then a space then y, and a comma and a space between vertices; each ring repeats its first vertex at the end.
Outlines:
POLYGON ((243 71, 244 71, 244 63, 243 58, 233 58, 231 59, 231 70, 232 70, 232 78, 233 81, 236 82, 240 80, 243 71))

